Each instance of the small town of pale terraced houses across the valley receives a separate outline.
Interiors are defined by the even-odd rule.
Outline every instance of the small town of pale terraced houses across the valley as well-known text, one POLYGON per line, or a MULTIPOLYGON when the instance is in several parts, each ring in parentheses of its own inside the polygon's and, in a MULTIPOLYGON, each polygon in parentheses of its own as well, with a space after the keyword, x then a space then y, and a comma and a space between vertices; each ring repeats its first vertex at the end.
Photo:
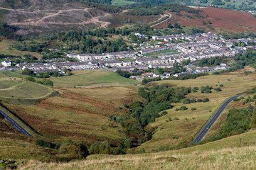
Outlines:
MULTIPOLYGON (((146 35, 136 33, 140 38, 148 40, 146 35)), ((80 62, 48 62, 48 63, 18 63, 11 67, 10 61, 1 62, 1 69, 31 69, 33 72, 63 72, 63 68, 71 70, 81 69, 108 69, 112 72, 117 70, 127 71, 136 74, 139 71, 142 75, 132 76, 132 79, 142 80, 143 77, 168 78, 170 74, 162 75, 153 72, 144 73, 147 69, 173 68, 175 63, 181 64, 184 60, 196 61, 210 57, 230 57, 238 52, 244 52, 255 46, 245 46, 247 42, 256 42, 252 38, 241 38, 225 40, 221 35, 214 33, 197 33, 195 35, 166 35, 153 36, 154 45, 143 42, 134 52, 111 52, 102 54, 67 54, 67 57, 74 58, 80 62)), ((197 74, 230 68, 226 64, 215 67, 193 67, 186 66, 186 72, 174 74, 174 77, 181 77, 186 74, 197 74)))

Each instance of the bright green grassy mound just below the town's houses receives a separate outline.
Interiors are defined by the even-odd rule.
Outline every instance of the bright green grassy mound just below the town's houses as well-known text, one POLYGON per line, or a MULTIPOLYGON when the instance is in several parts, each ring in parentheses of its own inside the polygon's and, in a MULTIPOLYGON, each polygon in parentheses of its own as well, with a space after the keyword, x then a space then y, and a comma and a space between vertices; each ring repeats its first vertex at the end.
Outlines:
POLYGON ((116 73, 102 69, 84 70, 73 72, 70 77, 53 77, 54 86, 85 86, 91 84, 120 83, 120 84, 139 84, 139 81, 127 79, 116 73))

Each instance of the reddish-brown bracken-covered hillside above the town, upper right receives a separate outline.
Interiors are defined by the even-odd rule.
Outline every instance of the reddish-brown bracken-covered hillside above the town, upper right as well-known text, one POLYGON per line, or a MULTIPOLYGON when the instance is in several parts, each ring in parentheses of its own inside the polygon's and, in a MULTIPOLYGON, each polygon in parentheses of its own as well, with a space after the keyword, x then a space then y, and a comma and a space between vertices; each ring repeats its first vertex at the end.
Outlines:
POLYGON ((254 24, 256 23, 256 18, 250 13, 222 8, 201 7, 200 9, 202 12, 199 17, 185 12, 181 12, 181 16, 176 15, 176 13, 171 13, 172 17, 169 21, 166 21, 155 28, 167 28, 169 23, 171 23, 172 26, 174 26, 174 23, 179 23, 181 26, 205 28, 206 30, 213 32, 219 32, 220 30, 232 31, 235 33, 256 31, 256 25, 254 24), (215 30, 212 30, 212 28, 215 28, 215 30))

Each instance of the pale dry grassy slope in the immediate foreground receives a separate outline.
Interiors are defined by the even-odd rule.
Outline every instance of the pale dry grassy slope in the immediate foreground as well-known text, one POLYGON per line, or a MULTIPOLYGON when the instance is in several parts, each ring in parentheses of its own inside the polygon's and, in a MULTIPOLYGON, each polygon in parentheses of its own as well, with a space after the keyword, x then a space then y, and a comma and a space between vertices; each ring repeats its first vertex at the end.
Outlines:
POLYGON ((176 151, 136 155, 92 155, 64 164, 28 162, 20 169, 255 169, 256 132, 176 151), (242 145, 240 144, 242 139, 242 145))

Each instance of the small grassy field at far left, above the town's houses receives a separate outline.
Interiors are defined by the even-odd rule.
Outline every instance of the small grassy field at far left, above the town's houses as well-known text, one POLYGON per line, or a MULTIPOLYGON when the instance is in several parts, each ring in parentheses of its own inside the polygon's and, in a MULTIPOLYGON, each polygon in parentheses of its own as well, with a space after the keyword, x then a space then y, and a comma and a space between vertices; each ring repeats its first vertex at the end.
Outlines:
POLYGON ((1 40, 0 41, 0 54, 3 55, 14 55, 14 56, 23 56, 23 55, 31 55, 37 58, 41 58, 42 55, 36 53, 36 52, 26 52, 26 51, 19 51, 15 48, 11 47, 11 44, 13 44, 15 41, 12 40, 1 40))

